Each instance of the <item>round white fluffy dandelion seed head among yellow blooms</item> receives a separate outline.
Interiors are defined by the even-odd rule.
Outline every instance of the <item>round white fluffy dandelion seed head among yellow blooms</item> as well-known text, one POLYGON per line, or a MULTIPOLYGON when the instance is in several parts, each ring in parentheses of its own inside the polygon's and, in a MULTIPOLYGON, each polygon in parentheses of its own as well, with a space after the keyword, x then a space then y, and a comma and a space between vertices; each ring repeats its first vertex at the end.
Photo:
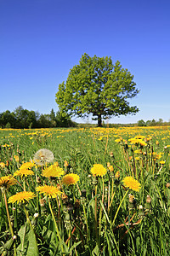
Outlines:
POLYGON ((34 154, 33 160, 38 166, 44 166, 54 161, 54 154, 50 150, 42 148, 39 149, 36 154, 34 154))

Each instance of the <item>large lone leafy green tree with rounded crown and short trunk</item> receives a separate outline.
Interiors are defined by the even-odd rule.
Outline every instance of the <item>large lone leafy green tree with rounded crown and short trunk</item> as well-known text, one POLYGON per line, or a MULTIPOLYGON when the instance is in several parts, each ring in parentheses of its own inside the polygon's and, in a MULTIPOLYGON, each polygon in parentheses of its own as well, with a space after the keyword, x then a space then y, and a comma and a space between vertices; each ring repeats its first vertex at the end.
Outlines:
POLYGON ((92 113, 101 126, 102 119, 137 113, 139 108, 129 106, 128 99, 138 93, 133 75, 119 61, 84 54, 66 83, 59 84, 56 102, 61 113, 82 118, 92 113))

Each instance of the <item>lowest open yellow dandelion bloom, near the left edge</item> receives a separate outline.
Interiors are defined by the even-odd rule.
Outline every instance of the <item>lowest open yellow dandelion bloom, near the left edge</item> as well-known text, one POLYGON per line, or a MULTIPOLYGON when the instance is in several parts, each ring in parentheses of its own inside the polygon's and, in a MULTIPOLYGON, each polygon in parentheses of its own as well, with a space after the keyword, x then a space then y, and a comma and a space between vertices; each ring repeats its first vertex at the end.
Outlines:
POLYGON ((19 192, 15 195, 12 195, 8 198, 8 203, 14 203, 15 201, 17 201, 17 203, 25 203, 26 201, 29 201, 31 199, 33 199, 36 195, 33 192, 27 192, 27 191, 23 191, 23 192, 19 192))

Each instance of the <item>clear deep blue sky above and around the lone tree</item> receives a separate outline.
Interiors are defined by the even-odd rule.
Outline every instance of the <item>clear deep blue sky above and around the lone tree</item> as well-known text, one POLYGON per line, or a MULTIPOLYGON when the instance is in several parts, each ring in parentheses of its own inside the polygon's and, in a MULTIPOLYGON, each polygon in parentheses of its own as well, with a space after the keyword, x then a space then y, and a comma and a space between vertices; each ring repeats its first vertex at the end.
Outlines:
POLYGON ((169 14, 169 0, 0 0, 0 113, 58 111, 58 85, 86 52, 120 61, 140 90, 139 113, 110 122, 168 121, 169 14))

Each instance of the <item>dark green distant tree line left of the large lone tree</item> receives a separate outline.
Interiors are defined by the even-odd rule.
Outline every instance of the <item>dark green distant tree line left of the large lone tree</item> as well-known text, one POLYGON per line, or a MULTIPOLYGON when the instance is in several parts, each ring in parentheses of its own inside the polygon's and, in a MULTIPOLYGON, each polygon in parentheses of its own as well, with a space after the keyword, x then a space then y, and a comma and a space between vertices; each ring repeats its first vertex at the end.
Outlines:
POLYGON ((54 113, 52 108, 49 114, 29 111, 21 106, 14 112, 6 110, 0 113, 0 128, 31 129, 49 127, 74 127, 77 124, 68 115, 63 116, 59 111, 54 113))

